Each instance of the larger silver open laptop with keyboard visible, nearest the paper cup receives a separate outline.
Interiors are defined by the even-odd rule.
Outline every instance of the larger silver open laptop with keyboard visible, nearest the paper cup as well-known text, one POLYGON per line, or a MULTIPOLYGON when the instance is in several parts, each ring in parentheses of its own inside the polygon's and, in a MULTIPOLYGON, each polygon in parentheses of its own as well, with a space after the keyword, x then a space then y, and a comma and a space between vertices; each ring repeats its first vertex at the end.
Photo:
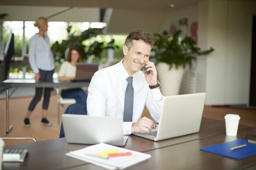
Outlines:
POLYGON ((163 139, 198 133, 206 93, 164 96, 160 122, 150 133, 133 133, 143 138, 163 139))

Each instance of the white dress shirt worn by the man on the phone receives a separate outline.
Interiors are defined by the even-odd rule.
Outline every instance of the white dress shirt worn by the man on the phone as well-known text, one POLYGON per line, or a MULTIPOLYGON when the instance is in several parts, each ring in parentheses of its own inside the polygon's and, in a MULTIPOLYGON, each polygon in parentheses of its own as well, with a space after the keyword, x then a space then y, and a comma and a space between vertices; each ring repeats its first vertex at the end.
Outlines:
MULTIPOLYGON (((122 59, 123 60, 123 59, 122 59)), ((129 74, 122 60, 116 65, 102 68, 91 79, 88 87, 87 114, 92 116, 121 117, 124 114, 125 89, 129 74)), ((131 125, 140 120, 144 106, 151 117, 159 122, 163 95, 160 90, 150 89, 143 71, 132 75, 134 88, 134 105, 132 122, 123 122, 123 133, 131 134, 131 125)))

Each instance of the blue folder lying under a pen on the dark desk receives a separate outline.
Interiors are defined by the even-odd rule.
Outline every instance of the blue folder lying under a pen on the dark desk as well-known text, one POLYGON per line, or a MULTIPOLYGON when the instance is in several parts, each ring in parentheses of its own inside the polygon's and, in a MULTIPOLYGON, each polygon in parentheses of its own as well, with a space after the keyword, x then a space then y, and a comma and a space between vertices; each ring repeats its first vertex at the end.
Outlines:
POLYGON ((256 155, 256 144, 248 143, 244 139, 238 139, 232 142, 226 142, 222 144, 216 144, 210 147, 204 147, 201 148, 200 150, 204 150, 206 152, 215 153, 233 159, 243 159, 249 156, 256 155), (247 144, 247 146, 235 150, 230 150, 231 147, 235 147, 242 144, 247 144))

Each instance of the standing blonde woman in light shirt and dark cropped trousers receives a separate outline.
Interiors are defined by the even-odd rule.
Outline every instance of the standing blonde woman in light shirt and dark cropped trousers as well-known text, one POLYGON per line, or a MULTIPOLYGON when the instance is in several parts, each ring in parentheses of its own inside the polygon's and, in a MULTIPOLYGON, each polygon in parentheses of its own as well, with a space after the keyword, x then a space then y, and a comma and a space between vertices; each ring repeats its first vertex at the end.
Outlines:
MULTIPOLYGON (((49 44, 49 37, 45 34, 48 30, 48 21, 45 17, 39 17, 34 24, 39 32, 31 37, 29 41, 29 64, 35 74, 35 82, 52 82, 52 75, 55 69, 54 59, 49 44)), ((29 104, 24 119, 26 127, 30 127, 29 117, 35 106, 41 100, 43 88, 35 88, 35 96, 29 104)), ((44 88, 44 102, 41 124, 51 126, 52 123, 46 118, 49 106, 51 88, 44 88)))

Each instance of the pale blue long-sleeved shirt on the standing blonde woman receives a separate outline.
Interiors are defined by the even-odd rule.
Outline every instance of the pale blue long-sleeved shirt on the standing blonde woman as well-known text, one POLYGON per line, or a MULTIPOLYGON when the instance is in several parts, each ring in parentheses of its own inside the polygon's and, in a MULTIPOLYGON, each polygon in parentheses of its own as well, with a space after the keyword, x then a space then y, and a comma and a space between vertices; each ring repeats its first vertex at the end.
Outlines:
POLYGON ((29 64, 34 73, 39 70, 52 71, 54 66, 54 59, 49 44, 49 37, 45 38, 35 34, 29 40, 29 64))

